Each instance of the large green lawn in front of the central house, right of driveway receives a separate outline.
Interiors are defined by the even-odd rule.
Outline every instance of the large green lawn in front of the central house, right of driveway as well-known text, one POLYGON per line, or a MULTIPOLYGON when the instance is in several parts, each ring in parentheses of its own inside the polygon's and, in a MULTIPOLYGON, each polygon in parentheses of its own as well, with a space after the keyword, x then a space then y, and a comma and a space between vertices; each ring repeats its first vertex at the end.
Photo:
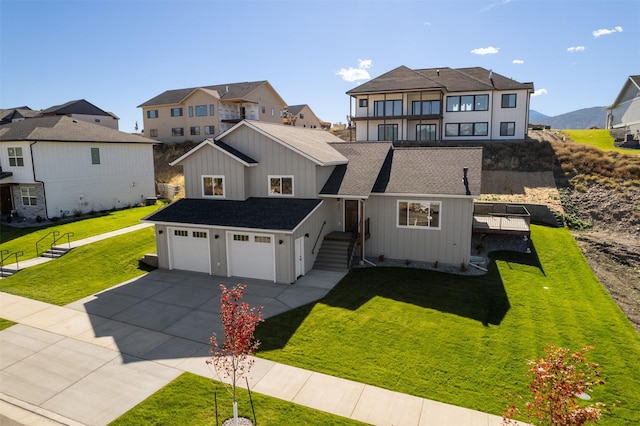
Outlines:
POLYGON ((602 424, 640 423, 640 336, 567 230, 533 226, 532 241, 534 254, 498 253, 483 277, 352 271, 261 324, 258 356, 500 415, 547 343, 593 345, 607 381, 593 400, 620 400, 602 424))

